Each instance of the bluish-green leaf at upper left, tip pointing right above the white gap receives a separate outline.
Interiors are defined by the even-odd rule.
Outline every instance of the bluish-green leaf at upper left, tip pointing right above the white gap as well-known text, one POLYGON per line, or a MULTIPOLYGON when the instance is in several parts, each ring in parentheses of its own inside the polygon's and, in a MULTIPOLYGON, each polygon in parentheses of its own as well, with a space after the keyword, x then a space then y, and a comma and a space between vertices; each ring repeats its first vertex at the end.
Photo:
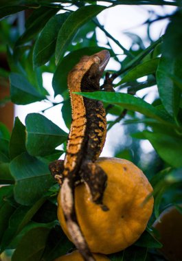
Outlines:
POLYGON ((10 84, 11 99, 15 104, 30 104, 45 98, 19 73, 10 74, 10 84))

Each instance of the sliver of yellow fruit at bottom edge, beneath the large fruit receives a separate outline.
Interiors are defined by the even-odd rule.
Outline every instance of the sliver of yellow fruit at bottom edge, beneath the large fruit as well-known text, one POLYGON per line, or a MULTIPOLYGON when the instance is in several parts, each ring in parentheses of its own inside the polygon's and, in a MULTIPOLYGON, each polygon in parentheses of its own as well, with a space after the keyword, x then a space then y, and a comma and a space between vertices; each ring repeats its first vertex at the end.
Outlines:
MULTIPOLYGON (((100 253, 93 254, 96 261, 109 261, 110 259, 100 253)), ((80 255, 78 251, 73 251, 71 253, 67 253, 65 256, 60 256, 60 258, 56 258, 54 261, 83 261, 84 259, 80 255)))

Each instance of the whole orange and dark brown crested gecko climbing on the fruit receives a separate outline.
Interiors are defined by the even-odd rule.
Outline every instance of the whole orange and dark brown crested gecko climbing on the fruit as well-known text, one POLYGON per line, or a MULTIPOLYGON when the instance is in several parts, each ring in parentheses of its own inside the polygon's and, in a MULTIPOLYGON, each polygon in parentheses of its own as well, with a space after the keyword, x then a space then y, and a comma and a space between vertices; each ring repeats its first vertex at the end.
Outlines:
POLYGON ((83 56, 69 72, 67 82, 71 98, 71 128, 66 155, 64 161, 57 160, 49 164, 49 170, 60 184, 61 205, 69 234, 86 261, 95 259, 76 218, 74 188, 84 182, 91 192, 92 201, 99 204, 103 211, 108 210, 102 202, 107 177, 95 163, 106 139, 106 112, 102 102, 73 92, 100 91, 100 78, 109 58, 107 50, 83 56))

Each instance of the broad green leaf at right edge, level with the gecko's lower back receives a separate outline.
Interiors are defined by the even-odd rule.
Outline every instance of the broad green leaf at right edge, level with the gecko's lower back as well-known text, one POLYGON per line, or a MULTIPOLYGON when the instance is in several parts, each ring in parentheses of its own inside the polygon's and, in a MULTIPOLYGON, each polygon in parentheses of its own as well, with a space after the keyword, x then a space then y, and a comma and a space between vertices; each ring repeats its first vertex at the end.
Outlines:
POLYGON ((152 133, 144 131, 146 139, 150 141, 159 156, 166 161, 170 166, 182 166, 182 139, 173 137, 166 133, 152 133))

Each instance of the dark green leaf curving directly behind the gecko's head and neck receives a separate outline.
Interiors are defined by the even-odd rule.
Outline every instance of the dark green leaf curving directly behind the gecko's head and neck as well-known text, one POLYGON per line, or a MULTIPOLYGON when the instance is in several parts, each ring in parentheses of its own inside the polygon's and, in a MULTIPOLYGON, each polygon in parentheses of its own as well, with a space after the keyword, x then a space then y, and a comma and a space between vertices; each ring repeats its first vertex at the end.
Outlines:
MULTIPOLYGON (((80 58, 84 55, 92 55, 97 52, 102 51, 103 47, 84 47, 73 51, 60 61, 56 71, 54 72, 54 77, 52 79, 52 87, 54 89, 54 95, 58 95, 67 91, 67 76, 69 71, 76 65, 80 58)), ((111 52, 111 50, 109 50, 111 52)))

